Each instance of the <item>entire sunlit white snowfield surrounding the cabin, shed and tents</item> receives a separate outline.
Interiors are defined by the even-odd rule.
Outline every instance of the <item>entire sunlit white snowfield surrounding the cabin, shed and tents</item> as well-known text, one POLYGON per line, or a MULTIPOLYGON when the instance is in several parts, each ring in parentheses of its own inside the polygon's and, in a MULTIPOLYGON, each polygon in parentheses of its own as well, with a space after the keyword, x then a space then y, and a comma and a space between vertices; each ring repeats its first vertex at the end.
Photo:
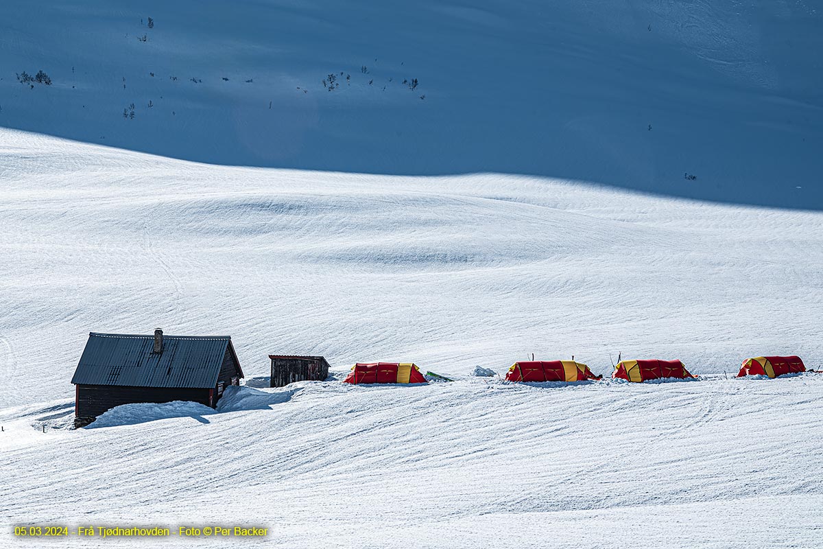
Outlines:
POLYGON ((201 165, 7 129, 0 188, 9 528, 270 529, 181 547, 820 546, 823 377, 722 372, 823 362, 821 213, 201 165), (249 386, 214 412, 134 405, 68 429, 87 333, 157 326, 230 334, 249 386), (608 375, 618 351, 704 376, 465 374, 534 352, 608 375), (273 352, 327 356, 333 379, 265 388, 273 352), (378 360, 457 380, 340 382, 378 360))

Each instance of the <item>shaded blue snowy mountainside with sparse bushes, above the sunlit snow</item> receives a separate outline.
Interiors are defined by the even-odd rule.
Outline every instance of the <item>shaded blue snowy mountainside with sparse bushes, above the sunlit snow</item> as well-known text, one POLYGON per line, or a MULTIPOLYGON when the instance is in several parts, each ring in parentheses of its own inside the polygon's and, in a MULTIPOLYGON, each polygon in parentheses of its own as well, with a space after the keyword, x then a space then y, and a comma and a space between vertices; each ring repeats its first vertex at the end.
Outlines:
POLYGON ((12 0, 0 126, 216 164, 820 209, 821 51, 804 0, 12 0), (52 85, 16 79, 39 70, 52 85))

